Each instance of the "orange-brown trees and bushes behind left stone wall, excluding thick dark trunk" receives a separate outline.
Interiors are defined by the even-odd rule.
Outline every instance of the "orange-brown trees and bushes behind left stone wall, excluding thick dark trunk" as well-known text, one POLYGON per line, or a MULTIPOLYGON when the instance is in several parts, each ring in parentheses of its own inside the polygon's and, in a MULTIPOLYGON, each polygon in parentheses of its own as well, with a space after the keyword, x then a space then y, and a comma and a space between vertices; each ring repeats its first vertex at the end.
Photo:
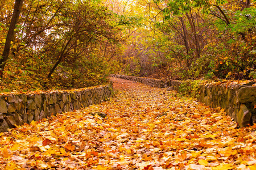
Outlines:
MULTIPOLYGON (((1 2, 0 54, 13 5, 1 2)), ((108 82, 107 62, 122 39, 119 21, 102 2, 24 1, 9 57, 0 63, 5 65, 0 90, 68 89, 108 82)))

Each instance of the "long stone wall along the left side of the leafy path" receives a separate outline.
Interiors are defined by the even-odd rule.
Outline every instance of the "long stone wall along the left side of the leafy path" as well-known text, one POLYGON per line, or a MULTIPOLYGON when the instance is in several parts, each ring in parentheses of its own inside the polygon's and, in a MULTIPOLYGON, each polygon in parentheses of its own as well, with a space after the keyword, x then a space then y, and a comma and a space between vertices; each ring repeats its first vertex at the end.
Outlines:
POLYGON ((70 91, 49 91, 38 94, 5 94, 0 96, 0 132, 15 125, 38 121, 52 114, 70 112, 105 101, 112 85, 70 91))

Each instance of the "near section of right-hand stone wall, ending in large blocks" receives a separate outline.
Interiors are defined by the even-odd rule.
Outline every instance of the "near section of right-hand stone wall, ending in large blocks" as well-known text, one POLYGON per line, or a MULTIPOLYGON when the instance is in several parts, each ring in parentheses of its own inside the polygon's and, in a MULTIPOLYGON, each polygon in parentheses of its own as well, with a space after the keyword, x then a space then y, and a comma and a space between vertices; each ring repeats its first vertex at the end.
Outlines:
POLYGON ((212 108, 221 107, 241 127, 256 123, 256 87, 251 85, 225 84, 200 85, 199 101, 212 108))

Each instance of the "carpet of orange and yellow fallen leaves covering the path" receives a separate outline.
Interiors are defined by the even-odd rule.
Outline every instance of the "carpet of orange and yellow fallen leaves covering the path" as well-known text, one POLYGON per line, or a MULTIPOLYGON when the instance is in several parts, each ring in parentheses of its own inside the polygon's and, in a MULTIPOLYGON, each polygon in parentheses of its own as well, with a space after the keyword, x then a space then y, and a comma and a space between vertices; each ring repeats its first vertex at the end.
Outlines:
POLYGON ((109 101, 1 133, 0 169, 256 169, 256 125, 239 129, 221 109, 112 80, 109 101))

